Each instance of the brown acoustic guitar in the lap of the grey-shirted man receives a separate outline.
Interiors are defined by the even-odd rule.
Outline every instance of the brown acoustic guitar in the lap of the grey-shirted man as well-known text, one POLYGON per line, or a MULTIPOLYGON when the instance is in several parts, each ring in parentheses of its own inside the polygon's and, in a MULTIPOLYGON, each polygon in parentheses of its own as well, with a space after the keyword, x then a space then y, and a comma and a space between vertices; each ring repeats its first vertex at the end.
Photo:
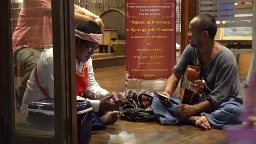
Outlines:
POLYGON ((200 67, 188 65, 180 83, 179 97, 183 104, 193 104, 199 97, 202 97, 202 91, 205 81, 199 80, 200 67))

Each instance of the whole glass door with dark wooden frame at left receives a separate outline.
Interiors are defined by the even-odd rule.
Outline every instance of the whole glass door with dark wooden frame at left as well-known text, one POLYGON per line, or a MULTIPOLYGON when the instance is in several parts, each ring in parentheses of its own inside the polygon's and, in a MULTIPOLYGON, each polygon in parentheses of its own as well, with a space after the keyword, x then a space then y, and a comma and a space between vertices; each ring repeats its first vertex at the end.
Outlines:
POLYGON ((72 4, 0 2, 0 143, 77 143, 72 4))

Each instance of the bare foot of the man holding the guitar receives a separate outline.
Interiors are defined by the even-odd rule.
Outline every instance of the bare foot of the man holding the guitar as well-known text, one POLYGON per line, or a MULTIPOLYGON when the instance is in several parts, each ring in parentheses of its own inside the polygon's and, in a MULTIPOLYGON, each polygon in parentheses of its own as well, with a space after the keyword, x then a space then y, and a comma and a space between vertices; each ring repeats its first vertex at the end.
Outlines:
POLYGON ((192 116, 188 118, 188 121, 205 130, 211 129, 210 123, 208 123, 205 116, 192 116))

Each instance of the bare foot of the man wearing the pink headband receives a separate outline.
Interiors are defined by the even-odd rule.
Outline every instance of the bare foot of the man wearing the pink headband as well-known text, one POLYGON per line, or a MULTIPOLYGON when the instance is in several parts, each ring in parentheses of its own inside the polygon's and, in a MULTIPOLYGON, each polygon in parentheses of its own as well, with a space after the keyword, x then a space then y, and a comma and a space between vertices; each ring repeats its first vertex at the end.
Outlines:
POLYGON ((104 124, 114 124, 119 119, 119 111, 108 111, 105 115, 100 117, 104 124))

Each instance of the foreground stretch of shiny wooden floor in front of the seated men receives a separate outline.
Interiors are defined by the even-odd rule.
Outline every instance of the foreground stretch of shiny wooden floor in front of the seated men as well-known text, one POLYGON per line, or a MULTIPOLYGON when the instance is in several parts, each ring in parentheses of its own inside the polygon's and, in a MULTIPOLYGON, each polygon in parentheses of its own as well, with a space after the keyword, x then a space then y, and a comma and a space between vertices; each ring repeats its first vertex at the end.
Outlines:
POLYGON ((183 126, 162 126, 119 120, 105 130, 92 131, 90 143, 227 143, 224 130, 201 130, 183 126))

